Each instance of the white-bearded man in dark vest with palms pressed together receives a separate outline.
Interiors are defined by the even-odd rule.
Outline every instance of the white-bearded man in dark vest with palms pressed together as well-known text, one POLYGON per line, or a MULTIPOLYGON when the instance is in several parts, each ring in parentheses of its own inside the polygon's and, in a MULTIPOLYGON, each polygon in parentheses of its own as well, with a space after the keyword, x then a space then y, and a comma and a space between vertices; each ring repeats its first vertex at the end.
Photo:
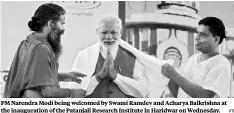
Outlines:
MULTIPOLYGON (((122 21, 117 16, 107 15, 101 18, 97 33, 98 42, 80 51, 73 65, 73 71, 87 75, 81 86, 87 90, 86 96, 149 97, 149 84, 157 80, 149 82, 150 76, 147 75, 151 73, 158 80, 163 80, 157 74, 160 75, 159 67, 165 61, 146 55, 121 40, 122 21)), ((153 90, 152 87, 156 86, 151 85, 150 90, 153 90)))

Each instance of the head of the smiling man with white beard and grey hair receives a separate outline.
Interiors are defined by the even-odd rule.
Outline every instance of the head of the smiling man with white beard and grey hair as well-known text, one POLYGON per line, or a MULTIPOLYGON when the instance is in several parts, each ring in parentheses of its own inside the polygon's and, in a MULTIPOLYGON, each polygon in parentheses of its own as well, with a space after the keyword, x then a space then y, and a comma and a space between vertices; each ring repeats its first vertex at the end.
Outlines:
POLYGON ((99 23, 99 43, 106 49, 112 49, 119 45, 122 26, 116 18, 103 19, 99 23))

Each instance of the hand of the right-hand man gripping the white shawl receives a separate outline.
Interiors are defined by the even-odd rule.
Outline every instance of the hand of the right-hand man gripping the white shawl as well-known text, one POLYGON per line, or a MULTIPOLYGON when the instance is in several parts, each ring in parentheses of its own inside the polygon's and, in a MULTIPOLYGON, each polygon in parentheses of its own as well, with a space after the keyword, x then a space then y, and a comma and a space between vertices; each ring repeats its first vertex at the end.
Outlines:
POLYGON ((175 76, 177 74, 177 72, 175 71, 175 69, 169 65, 169 64, 164 64, 162 66, 162 72, 161 72, 165 77, 171 79, 173 76, 175 76))

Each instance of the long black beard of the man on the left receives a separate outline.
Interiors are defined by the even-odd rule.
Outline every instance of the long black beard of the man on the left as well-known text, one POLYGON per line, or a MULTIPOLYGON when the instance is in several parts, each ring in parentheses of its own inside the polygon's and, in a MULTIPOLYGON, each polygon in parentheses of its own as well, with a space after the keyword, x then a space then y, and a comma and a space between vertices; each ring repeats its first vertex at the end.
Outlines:
POLYGON ((52 31, 48 37, 48 43, 55 53, 55 57, 58 60, 62 53, 62 45, 61 45, 61 33, 59 31, 52 31))

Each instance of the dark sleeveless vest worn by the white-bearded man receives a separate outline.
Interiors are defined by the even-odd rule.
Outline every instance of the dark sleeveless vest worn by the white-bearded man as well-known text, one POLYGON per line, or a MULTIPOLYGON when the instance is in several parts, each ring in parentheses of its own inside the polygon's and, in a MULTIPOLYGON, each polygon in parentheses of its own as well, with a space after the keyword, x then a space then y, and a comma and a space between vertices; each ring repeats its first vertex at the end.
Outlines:
MULTIPOLYGON (((124 48, 119 46, 116 58, 114 60, 114 69, 117 73, 122 76, 133 78, 133 71, 135 66, 136 57, 125 50, 124 48)), ((102 57, 101 53, 99 53, 98 61, 96 64, 96 69, 93 75, 98 73, 105 59, 102 57)), ((130 95, 124 94, 124 92, 118 87, 117 84, 111 82, 108 77, 101 80, 98 86, 95 88, 93 93, 87 98, 134 98, 130 95)))

